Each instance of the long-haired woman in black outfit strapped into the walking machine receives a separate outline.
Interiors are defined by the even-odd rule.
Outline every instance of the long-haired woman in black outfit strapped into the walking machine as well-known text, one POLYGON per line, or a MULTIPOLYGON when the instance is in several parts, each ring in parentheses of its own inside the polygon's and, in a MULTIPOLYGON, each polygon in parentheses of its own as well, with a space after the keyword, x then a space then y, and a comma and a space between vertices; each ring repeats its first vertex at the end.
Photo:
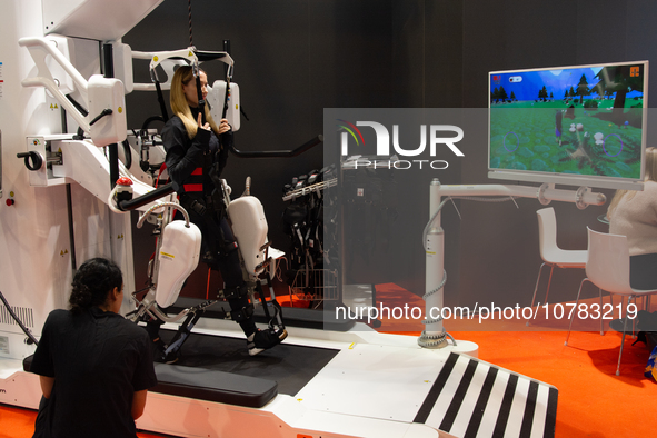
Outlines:
MULTIPOLYGON (((208 79, 202 70, 198 74, 201 97, 205 99, 208 79)), ((226 119, 219 125, 212 120, 208 106, 205 106, 203 112, 200 111, 198 94, 193 69, 190 66, 179 67, 171 79, 170 103, 173 116, 162 130, 167 170, 179 195, 180 205, 201 231, 201 260, 221 272, 223 295, 231 309, 230 317, 240 325, 247 336, 249 355, 253 356, 280 344, 287 331, 260 330, 253 321, 253 306, 248 300, 237 242, 225 206, 212 196, 215 190, 219 190, 213 181, 218 180, 228 159, 228 147, 222 145, 220 138, 226 142, 232 141, 232 132, 226 119), (215 177, 211 176, 212 171, 215 177)), ((153 326, 151 322, 149 329, 151 338, 157 339, 153 326)))

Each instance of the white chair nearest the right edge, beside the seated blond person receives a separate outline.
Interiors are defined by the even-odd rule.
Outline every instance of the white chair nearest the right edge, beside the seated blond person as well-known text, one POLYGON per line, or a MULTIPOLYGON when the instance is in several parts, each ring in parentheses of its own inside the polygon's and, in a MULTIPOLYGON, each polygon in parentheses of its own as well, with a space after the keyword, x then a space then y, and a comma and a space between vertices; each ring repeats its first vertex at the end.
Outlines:
MULTIPOLYGON (((637 297, 645 297, 657 293, 657 290, 638 290, 629 286, 629 247, 627 245, 627 237, 619 235, 607 235, 597 232, 588 228, 588 259, 586 262, 586 277, 579 285, 577 292, 577 300, 575 301, 575 311, 570 318, 568 327, 568 336, 566 342, 570 338, 570 329, 573 328, 573 319, 577 313, 577 305, 579 301, 579 293, 585 281, 593 282, 601 290, 609 293, 617 293, 628 297, 627 307, 625 309, 625 320, 623 325, 623 338, 620 340, 620 352, 618 354, 618 366, 616 367, 616 376, 620 374, 620 358, 623 357, 623 347, 625 345, 625 334, 627 331, 627 313, 631 300, 637 297)), ((600 296, 600 313, 601 309, 600 296)), ((623 316, 621 316, 623 317, 623 316)), ((600 318, 600 323, 601 323, 600 318)))

